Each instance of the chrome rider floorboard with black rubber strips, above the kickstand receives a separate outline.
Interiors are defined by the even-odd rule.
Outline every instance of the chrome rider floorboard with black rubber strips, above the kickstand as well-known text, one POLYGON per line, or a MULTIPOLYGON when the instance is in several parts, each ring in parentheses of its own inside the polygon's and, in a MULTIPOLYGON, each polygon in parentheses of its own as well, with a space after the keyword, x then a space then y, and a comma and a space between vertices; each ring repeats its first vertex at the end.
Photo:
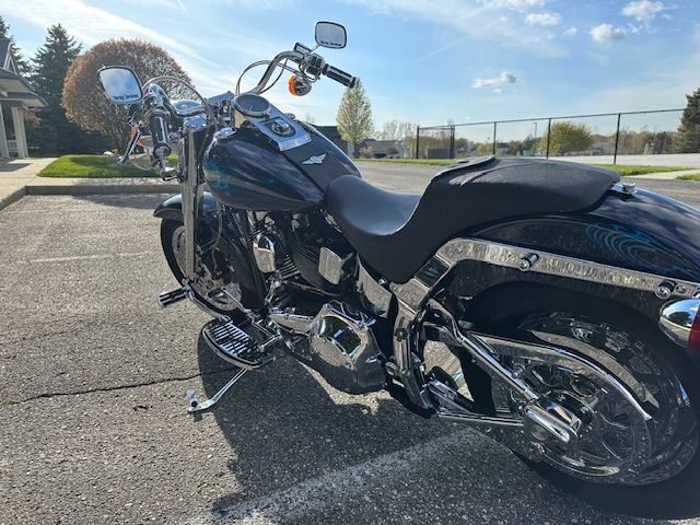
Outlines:
POLYGON ((275 359, 272 347, 281 338, 262 330, 253 323, 246 328, 255 330, 258 337, 252 337, 232 320, 210 320, 201 329, 209 348, 220 358, 245 370, 253 370, 275 359), (262 342, 258 342, 262 340, 262 342))

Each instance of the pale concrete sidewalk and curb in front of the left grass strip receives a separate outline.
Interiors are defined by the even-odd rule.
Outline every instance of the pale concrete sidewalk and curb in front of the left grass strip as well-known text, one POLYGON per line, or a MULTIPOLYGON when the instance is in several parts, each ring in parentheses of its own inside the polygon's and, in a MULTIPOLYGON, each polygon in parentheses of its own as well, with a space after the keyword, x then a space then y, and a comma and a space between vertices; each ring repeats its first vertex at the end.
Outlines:
POLYGON ((148 178, 52 178, 37 174, 55 159, 0 161, 0 210, 25 195, 177 192, 176 182, 148 178))

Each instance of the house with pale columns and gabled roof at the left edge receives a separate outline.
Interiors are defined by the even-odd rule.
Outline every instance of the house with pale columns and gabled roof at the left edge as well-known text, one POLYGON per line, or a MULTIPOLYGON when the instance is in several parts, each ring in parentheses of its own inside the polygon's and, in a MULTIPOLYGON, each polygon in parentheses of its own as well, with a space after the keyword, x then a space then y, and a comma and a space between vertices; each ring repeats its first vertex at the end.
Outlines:
POLYGON ((0 38, 0 158, 30 156, 24 112, 44 106, 44 98, 18 73, 10 40, 0 38))

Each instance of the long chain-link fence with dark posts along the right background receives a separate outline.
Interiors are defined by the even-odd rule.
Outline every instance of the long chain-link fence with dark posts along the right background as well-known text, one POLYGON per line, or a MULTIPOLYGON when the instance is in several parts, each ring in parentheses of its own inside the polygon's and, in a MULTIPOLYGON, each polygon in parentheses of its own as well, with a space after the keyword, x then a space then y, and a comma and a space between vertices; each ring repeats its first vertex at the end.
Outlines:
POLYGON ((419 127, 416 159, 538 156, 596 164, 700 168, 700 124, 682 109, 419 127))

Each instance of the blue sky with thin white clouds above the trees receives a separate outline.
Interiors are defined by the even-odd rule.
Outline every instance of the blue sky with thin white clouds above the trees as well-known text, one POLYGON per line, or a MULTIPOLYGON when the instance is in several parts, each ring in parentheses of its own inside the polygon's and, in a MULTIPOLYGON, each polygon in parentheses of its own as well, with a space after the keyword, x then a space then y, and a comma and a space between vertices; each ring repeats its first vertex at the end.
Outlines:
MULTIPOLYGON (((698 0, 0 0, 0 14, 28 56, 58 22, 86 47, 154 42, 208 95, 337 21, 348 47, 323 55, 362 78, 377 128, 682 107, 700 88, 698 0)), ((270 93, 324 125, 342 88, 270 93)))

